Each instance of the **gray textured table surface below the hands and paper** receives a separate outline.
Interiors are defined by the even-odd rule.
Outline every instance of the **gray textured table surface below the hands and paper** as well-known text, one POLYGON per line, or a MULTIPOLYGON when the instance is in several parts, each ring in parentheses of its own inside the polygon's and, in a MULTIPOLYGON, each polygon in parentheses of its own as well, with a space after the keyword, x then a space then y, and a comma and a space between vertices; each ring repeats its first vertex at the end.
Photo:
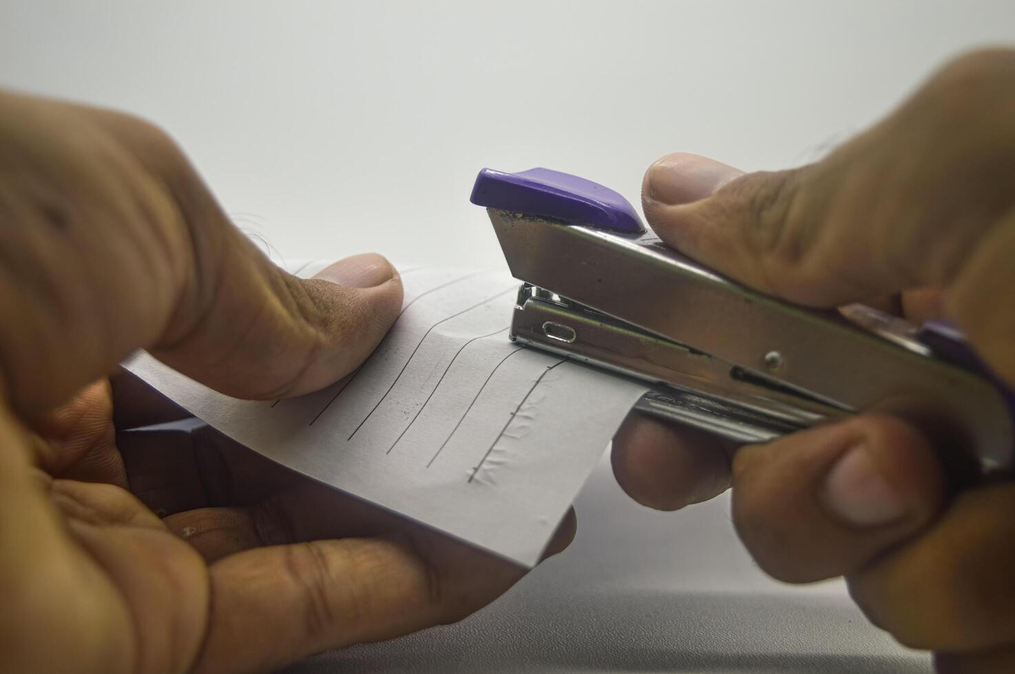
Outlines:
POLYGON ((736 538, 727 497, 657 513, 629 501, 604 460, 576 510, 571 546, 478 613, 286 674, 931 671, 929 656, 872 626, 840 582, 765 577, 736 538))

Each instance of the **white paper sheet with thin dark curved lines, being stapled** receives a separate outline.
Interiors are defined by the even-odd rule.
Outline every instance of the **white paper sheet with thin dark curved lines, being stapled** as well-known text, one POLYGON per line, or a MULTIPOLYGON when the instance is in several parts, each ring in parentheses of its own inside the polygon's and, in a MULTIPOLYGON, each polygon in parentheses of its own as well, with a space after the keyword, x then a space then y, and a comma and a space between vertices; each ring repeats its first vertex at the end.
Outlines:
POLYGON ((402 276, 391 332, 351 379, 315 393, 239 400, 147 354, 125 365, 279 463, 533 566, 646 388, 512 343, 519 283, 505 272, 402 276))

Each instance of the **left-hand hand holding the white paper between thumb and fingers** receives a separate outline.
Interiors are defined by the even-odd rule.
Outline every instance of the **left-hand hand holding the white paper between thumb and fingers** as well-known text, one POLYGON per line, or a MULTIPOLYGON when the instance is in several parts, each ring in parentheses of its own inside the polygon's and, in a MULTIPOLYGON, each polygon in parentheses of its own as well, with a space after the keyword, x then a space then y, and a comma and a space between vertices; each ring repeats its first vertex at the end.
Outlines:
POLYGON ((213 432, 130 430, 183 414, 116 372, 138 348, 239 397, 349 373, 401 307, 383 257, 295 279, 157 129, 2 92, 0 223, 0 670, 267 671, 522 576, 213 432))

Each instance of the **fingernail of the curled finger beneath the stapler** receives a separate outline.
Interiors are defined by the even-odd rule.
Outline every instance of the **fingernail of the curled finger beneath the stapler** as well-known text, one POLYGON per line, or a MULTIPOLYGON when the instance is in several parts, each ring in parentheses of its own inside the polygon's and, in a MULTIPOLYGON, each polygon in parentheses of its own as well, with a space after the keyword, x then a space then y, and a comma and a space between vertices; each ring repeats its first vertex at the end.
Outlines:
POLYGON ((865 445, 849 450, 832 466, 824 498, 832 512, 859 526, 887 524, 906 514, 902 499, 882 476, 865 445))

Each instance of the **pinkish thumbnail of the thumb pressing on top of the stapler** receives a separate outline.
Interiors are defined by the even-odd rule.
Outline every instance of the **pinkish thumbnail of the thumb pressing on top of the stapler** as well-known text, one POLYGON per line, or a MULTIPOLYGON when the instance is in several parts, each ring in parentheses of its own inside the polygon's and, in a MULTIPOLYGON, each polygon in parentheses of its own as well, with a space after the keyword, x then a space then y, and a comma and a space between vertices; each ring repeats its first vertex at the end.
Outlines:
POLYGON ((669 154, 648 171, 648 196, 669 206, 704 199, 743 171, 696 154, 669 154))

